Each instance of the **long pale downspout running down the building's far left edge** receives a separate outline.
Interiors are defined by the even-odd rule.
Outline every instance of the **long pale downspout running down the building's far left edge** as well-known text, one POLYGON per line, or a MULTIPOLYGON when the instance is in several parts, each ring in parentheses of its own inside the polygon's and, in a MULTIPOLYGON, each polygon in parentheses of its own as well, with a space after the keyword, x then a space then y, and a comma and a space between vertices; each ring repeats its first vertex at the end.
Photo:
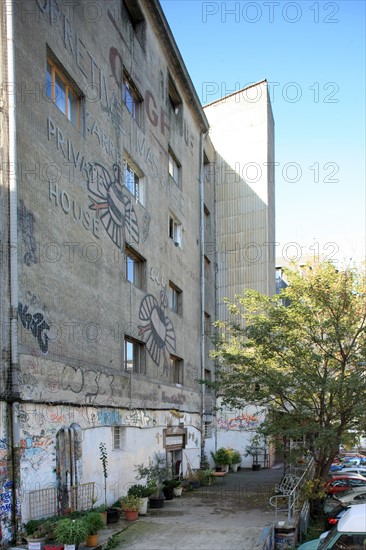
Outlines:
POLYGON ((18 358, 18 182, 17 182, 17 135, 16 135, 16 80, 13 0, 5 0, 7 80, 8 80, 8 143, 9 143, 9 257, 10 257, 10 380, 9 380, 9 436, 12 463, 12 538, 17 536, 17 490, 16 480, 19 460, 19 358, 18 358))

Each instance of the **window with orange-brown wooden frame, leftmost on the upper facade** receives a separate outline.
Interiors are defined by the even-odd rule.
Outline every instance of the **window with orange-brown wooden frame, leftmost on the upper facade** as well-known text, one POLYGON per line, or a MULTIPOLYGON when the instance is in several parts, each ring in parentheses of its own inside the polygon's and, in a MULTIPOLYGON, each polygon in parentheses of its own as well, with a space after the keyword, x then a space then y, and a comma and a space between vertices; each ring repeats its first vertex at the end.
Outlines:
POLYGON ((47 58, 46 90, 49 99, 57 105, 66 118, 80 129, 80 94, 71 84, 65 72, 47 58))

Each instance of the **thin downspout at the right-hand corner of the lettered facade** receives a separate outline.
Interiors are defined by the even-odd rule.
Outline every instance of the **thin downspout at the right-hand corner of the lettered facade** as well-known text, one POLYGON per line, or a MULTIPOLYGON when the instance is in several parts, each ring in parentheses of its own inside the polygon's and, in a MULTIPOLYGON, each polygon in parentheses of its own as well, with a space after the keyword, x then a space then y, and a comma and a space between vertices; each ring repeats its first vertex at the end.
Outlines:
MULTIPOLYGON (((201 286, 201 380, 205 379, 205 175, 204 175, 204 142, 208 132, 200 135, 200 286, 201 286)), ((201 457, 204 451, 205 436, 205 384, 201 383, 201 457)))

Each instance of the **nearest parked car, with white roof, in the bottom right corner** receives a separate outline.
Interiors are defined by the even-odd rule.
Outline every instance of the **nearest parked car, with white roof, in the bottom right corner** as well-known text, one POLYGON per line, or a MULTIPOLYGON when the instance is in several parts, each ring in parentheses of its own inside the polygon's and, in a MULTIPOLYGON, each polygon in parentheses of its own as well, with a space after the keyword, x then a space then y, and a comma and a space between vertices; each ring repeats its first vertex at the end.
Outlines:
POLYGON ((366 544, 366 504, 351 506, 338 523, 318 539, 301 544, 297 550, 364 550, 366 544))

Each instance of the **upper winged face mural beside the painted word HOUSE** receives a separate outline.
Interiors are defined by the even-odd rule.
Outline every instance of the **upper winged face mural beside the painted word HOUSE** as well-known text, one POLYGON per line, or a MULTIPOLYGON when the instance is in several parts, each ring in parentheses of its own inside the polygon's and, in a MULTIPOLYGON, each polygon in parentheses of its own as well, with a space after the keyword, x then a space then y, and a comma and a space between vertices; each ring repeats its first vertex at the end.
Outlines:
POLYGON ((139 242, 139 227, 135 209, 123 192, 121 168, 113 165, 113 177, 101 164, 93 162, 88 172, 88 189, 92 193, 89 199, 91 210, 103 223, 109 237, 118 248, 123 249, 126 229, 133 240, 139 242))

